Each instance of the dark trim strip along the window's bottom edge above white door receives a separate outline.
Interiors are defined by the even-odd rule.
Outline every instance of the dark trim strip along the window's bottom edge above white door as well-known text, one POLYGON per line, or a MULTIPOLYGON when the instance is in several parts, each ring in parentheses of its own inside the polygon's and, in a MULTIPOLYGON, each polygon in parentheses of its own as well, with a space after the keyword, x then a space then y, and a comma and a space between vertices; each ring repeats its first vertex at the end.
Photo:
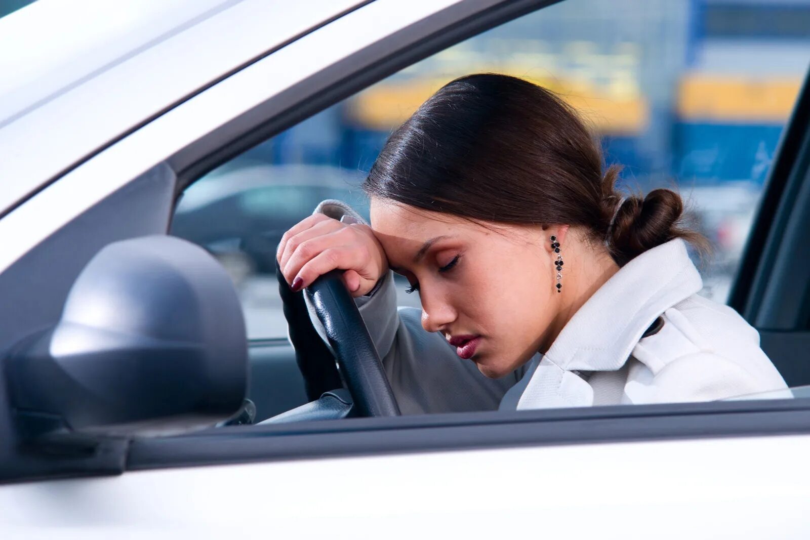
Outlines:
POLYGON ((343 419, 130 440, 126 470, 263 461, 810 434, 810 399, 343 419))

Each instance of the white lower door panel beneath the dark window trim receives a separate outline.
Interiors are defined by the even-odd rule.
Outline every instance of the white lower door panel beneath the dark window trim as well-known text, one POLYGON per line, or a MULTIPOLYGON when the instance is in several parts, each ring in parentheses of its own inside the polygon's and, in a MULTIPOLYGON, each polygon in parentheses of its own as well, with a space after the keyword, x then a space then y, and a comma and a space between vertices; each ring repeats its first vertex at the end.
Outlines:
POLYGON ((805 538, 808 451, 772 436, 292 459, 23 483, 0 508, 4 538, 49 540, 805 538))

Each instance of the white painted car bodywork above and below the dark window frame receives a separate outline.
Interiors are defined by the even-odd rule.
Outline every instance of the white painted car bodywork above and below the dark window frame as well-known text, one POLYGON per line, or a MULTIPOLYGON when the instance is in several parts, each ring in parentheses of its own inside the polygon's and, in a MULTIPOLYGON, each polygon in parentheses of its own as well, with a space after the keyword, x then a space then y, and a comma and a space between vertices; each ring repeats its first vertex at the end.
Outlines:
MULTIPOLYGON (((0 274, 212 134, 505 3, 40 0, 0 19, 0 274)), ((788 424, 12 480, 0 538, 808 538, 810 433, 788 424)))

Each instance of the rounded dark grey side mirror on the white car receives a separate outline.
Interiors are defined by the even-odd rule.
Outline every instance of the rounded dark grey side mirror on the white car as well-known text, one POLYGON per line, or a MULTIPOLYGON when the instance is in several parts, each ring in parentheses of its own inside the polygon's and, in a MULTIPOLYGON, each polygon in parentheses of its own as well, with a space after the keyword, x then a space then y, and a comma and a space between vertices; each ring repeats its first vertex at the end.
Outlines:
POLYGON ((247 389, 241 305, 224 269, 173 236, 101 249, 62 317, 3 361, 23 435, 152 435, 211 426, 247 389))

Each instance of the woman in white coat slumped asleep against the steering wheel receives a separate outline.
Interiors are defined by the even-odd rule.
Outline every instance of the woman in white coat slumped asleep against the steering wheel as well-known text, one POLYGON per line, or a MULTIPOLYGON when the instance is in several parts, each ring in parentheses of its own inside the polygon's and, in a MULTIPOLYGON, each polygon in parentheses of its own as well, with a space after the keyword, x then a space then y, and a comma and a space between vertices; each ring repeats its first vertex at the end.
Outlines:
POLYGON ((522 79, 448 83, 386 142, 371 227, 323 202, 279 245, 293 291, 346 270, 403 413, 688 402, 783 389, 759 335, 697 296, 668 189, 616 192, 573 109, 522 79), (390 270, 422 311, 395 308, 390 270), (483 374, 483 376, 482 376, 483 374))

